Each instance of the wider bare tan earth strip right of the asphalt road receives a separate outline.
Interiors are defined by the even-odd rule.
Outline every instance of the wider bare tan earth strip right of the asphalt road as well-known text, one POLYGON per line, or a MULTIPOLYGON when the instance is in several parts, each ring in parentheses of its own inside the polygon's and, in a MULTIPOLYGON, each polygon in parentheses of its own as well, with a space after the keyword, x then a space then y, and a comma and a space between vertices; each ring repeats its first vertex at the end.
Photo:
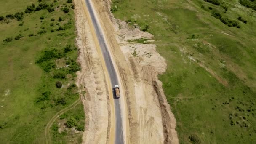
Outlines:
POLYGON ((128 135, 131 144, 178 144, 176 120, 157 75, 165 72, 165 59, 156 45, 128 43, 153 35, 128 27, 110 13, 110 1, 93 0, 115 57, 128 106, 128 135))

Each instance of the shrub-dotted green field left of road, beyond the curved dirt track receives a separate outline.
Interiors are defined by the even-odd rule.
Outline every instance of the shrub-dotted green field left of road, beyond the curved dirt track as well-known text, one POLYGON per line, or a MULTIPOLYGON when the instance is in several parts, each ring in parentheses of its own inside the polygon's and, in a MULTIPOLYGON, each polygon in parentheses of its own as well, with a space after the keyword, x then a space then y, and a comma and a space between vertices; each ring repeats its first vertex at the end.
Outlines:
POLYGON ((51 117, 79 98, 77 88, 68 86, 79 70, 71 7, 67 0, 0 1, 0 143, 45 143, 51 117), (45 2, 45 9, 24 13, 45 2), (5 18, 17 12, 24 13, 22 20, 5 18))

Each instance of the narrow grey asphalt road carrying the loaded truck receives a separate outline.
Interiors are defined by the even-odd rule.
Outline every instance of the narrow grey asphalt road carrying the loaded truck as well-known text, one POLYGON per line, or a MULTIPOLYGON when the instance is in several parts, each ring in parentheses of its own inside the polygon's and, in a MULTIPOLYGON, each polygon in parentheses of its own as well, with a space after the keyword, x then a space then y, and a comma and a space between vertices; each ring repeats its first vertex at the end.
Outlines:
MULTIPOLYGON (((111 80, 111 85, 113 90, 115 85, 118 85, 117 73, 115 71, 112 60, 110 58, 107 44, 103 38, 104 34, 101 31, 101 28, 99 27, 100 24, 98 21, 96 21, 96 15, 93 11, 91 2, 90 0, 85 0, 85 3, 89 11, 89 14, 91 16, 91 20, 93 22, 94 30, 98 38, 99 45, 101 47, 101 52, 104 56, 104 60, 107 66, 107 70, 109 73, 109 78, 111 80)), ((113 91, 113 93, 115 94, 115 91, 113 91)), ((115 103, 115 144, 123 144, 123 127, 122 127, 122 118, 121 118, 121 110, 120 110, 120 101, 119 99, 116 99, 115 95, 113 97, 114 97, 114 103, 115 103)))

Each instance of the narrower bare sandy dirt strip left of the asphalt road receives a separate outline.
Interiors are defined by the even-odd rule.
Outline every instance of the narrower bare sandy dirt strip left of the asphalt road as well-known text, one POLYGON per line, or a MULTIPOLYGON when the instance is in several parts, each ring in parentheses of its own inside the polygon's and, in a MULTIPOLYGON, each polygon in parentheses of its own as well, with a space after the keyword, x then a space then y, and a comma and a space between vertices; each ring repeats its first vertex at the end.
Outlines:
POLYGON ((77 85, 85 90, 82 101, 85 110, 85 132, 83 143, 109 143, 110 104, 109 93, 95 40, 85 13, 83 0, 74 0, 75 21, 79 50, 78 61, 81 72, 78 73, 77 85))

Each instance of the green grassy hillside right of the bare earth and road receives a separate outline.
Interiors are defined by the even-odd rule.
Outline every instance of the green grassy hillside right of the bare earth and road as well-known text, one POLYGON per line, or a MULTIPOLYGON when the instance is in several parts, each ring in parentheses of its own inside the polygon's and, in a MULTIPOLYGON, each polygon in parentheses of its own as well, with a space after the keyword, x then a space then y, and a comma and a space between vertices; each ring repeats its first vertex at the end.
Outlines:
POLYGON ((181 144, 256 142, 256 11, 242 1, 112 0, 167 61, 159 78, 181 144))

